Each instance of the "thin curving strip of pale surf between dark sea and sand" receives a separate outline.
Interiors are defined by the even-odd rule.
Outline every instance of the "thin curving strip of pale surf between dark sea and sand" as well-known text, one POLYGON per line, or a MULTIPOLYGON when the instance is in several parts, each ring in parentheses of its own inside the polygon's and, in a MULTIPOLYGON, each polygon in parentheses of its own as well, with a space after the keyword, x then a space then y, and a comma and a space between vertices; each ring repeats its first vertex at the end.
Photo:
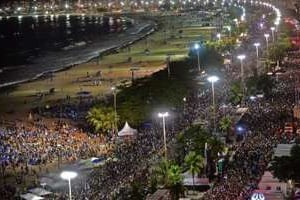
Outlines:
MULTIPOLYGON (((23 79, 23 80, 19 80, 19 81, 12 81, 12 82, 8 82, 8 83, 0 84, 0 92, 1 92, 1 90, 5 90, 9 87, 13 87, 13 86, 17 86, 17 85, 20 85, 23 83, 28 83, 28 82, 33 82, 33 81, 39 80, 39 79, 45 77, 47 74, 53 74, 53 73, 69 70, 70 68, 76 67, 76 65, 91 62, 93 59, 97 58, 99 55, 109 55, 109 54, 112 54, 113 51, 115 51, 115 50, 130 46, 130 45, 144 39, 145 37, 148 37, 150 34, 152 34, 156 31, 155 27, 157 27, 157 23, 155 22, 155 20, 152 20, 151 22, 152 22, 152 24, 146 23, 142 27, 139 27, 137 29, 137 31, 135 31, 133 33, 128 33, 128 36, 137 35, 137 34, 140 34, 143 30, 145 30, 149 27, 151 28, 149 31, 147 31, 146 33, 142 34, 141 36, 139 36, 137 38, 132 38, 130 41, 127 41, 126 43, 121 43, 119 45, 112 45, 112 46, 106 47, 102 50, 98 50, 97 52, 94 52, 94 55, 86 56, 85 60, 79 60, 77 62, 73 62, 68 65, 62 66, 62 67, 57 67, 57 69, 46 70, 42 73, 35 75, 33 78, 28 78, 28 79, 23 79)), ((129 38, 128 36, 126 38, 129 38)), ((61 52, 61 53, 63 53, 63 52, 61 52)))

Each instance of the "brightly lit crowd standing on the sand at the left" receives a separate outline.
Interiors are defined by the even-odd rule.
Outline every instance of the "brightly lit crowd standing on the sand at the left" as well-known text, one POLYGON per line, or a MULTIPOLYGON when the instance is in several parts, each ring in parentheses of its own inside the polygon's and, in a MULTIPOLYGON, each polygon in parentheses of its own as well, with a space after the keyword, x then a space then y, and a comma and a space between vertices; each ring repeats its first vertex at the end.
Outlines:
POLYGON ((35 121, 31 125, 14 124, 0 129, 0 163, 5 172, 28 170, 35 165, 54 161, 74 161, 105 153, 103 141, 94 135, 67 124, 46 125, 35 121))

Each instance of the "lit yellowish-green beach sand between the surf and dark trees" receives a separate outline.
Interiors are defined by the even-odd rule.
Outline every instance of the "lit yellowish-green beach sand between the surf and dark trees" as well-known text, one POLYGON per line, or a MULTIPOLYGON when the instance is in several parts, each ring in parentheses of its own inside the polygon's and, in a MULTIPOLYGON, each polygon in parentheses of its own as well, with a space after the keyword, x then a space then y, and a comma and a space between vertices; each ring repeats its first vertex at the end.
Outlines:
MULTIPOLYGON (((164 17, 160 21, 163 27, 172 18, 164 17)), ((187 20, 187 19, 186 19, 187 20)), ((28 113, 30 108, 37 105, 52 103, 65 98, 67 95, 73 99, 77 92, 89 91, 93 96, 103 97, 110 92, 112 85, 123 80, 131 79, 130 68, 138 67, 135 72, 136 77, 150 75, 165 67, 166 56, 171 55, 171 60, 182 60, 188 55, 189 45, 193 41, 209 39, 210 31, 201 27, 181 27, 172 22, 174 26, 167 32, 163 29, 150 35, 148 39, 141 40, 129 48, 119 50, 119 52, 104 56, 99 63, 93 60, 73 67, 69 70, 55 73, 53 78, 36 80, 21 84, 11 90, 0 94, 0 113, 28 113), (182 30, 182 34, 179 34, 182 30), (167 42, 165 43, 165 36, 167 42), (149 53, 145 53, 145 49, 149 53), (129 62, 128 58, 131 57, 129 62), (91 77, 95 77, 101 70, 103 81, 99 86, 95 86, 91 77), (43 98, 37 97, 37 93, 48 93, 50 88, 55 88, 53 94, 45 95, 43 98)), ((27 114, 26 114, 27 115, 27 114)))

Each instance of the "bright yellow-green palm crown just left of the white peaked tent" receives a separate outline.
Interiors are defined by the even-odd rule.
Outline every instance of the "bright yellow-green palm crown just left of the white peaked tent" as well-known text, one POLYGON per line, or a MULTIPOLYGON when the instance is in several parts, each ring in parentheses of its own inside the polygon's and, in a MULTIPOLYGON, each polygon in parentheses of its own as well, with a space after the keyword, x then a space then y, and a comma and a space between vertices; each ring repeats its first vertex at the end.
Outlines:
POLYGON ((88 111, 86 119, 95 132, 108 133, 114 128, 115 112, 112 108, 93 107, 88 111))

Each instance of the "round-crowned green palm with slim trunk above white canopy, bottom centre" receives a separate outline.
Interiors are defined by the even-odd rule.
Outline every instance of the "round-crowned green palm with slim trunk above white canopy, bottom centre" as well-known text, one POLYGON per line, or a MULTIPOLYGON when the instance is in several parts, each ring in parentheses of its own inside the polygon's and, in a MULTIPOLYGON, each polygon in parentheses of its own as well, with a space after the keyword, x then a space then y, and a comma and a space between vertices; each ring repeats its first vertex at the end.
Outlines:
POLYGON ((197 155, 195 151, 190 151, 184 158, 188 171, 193 177, 193 190, 195 190, 195 174, 199 174, 204 166, 204 159, 201 155, 197 155))

